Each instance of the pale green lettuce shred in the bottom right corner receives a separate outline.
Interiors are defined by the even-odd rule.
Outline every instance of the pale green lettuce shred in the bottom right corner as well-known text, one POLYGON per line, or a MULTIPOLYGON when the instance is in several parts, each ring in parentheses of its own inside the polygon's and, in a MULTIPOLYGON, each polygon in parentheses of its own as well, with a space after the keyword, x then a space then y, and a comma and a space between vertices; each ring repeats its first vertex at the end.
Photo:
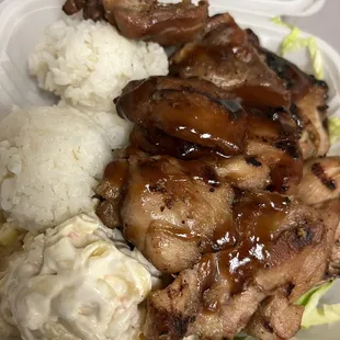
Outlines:
POLYGON ((314 287, 303 295, 296 304, 305 307, 302 328, 335 324, 340 321, 340 304, 322 305, 318 307, 320 298, 332 287, 333 282, 314 287))

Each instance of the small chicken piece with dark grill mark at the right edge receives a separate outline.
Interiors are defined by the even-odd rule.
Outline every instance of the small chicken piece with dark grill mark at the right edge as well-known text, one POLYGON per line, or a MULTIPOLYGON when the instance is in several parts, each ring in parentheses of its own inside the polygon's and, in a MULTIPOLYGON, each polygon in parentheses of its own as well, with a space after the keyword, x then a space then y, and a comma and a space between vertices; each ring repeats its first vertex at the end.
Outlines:
POLYGON ((308 160, 304 177, 298 185, 297 196, 313 205, 340 196, 340 157, 325 157, 308 160))

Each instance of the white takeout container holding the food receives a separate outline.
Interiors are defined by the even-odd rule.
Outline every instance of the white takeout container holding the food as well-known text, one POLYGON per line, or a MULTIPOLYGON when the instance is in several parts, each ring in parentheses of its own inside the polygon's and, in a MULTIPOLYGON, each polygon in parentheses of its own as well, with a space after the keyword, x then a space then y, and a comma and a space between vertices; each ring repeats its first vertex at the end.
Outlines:
MULTIPOLYGON (((276 52, 290 32, 275 25, 270 18, 277 14, 307 15, 319 10, 326 0, 211 0, 211 14, 229 11, 242 27, 252 29, 267 48, 276 52)), ((0 120, 12 105, 49 105, 56 99, 41 90, 27 72, 27 56, 34 49, 44 29, 63 16, 65 0, 0 0, 0 120)), ((171 2, 171 0, 162 0, 171 2)), ((307 33, 304 33, 308 36, 307 33)), ((340 56, 325 41, 317 38, 325 65, 325 80, 330 87, 329 114, 340 117, 340 56)), ((305 50, 286 56, 305 71, 311 72, 305 50)), ((340 145, 331 154, 340 154, 340 145)), ((340 281, 339 281, 340 282, 340 281)), ((340 303, 337 287, 326 297, 340 303)), ((340 292, 340 291, 339 291, 340 292)), ((298 339, 338 340, 340 324, 315 327, 298 335, 298 339)), ((4 340, 4 339, 2 339, 4 340)))

